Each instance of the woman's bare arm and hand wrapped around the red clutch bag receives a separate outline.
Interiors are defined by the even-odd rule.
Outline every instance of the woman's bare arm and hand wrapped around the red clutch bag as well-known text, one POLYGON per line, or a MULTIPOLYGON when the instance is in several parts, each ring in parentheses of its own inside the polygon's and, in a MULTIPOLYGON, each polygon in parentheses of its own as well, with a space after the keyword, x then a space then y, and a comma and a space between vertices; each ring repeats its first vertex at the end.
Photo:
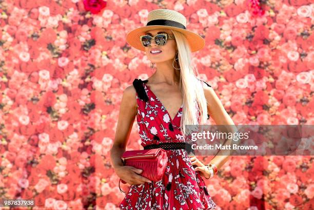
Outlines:
POLYGON ((136 91, 131 85, 123 91, 119 119, 115 130, 115 138, 112 148, 110 149, 110 158, 111 165, 117 176, 129 184, 144 184, 145 182, 150 182, 150 180, 138 175, 142 173, 142 170, 131 166, 123 166, 121 159, 121 156, 126 149, 135 120, 136 107, 136 91))

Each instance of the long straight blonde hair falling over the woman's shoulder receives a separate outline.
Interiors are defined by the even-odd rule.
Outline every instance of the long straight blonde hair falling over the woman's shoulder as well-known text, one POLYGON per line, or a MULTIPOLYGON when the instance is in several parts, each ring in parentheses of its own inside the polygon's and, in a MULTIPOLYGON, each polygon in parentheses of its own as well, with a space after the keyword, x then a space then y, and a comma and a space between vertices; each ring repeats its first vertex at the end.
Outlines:
POLYGON ((179 61, 180 66, 176 65, 174 67, 177 69, 180 68, 179 87, 183 96, 183 111, 180 126, 183 135, 186 136, 185 125, 207 124, 207 101, 204 96, 203 82, 197 79, 199 78, 197 67, 192 66, 192 52, 186 37, 179 31, 171 31, 178 47, 178 55, 175 58, 177 60, 174 63, 178 64, 179 61), (198 115, 198 111, 200 115, 198 115))

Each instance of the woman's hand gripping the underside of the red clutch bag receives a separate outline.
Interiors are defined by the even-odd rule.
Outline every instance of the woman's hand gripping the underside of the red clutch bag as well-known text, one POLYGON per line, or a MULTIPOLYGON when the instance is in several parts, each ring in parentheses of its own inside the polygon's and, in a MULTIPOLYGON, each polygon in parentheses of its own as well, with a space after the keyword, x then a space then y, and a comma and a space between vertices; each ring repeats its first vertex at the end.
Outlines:
POLYGON ((139 175, 143 172, 143 170, 139 168, 134 168, 132 166, 118 166, 115 167, 114 170, 118 177, 131 185, 151 182, 149 179, 139 175))

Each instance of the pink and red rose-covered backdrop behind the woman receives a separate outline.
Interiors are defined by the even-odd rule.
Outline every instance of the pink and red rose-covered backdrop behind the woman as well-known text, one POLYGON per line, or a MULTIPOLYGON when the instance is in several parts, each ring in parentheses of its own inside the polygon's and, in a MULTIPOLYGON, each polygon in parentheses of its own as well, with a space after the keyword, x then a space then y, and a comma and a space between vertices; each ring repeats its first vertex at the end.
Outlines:
MULTIPOLYGON (((0 1, 0 198, 34 199, 32 209, 119 209, 125 195, 109 150, 120 102, 152 73, 125 37, 153 9, 181 12, 204 37, 193 63, 235 124, 314 124, 310 3, 0 1)), ((135 125, 127 149, 142 149, 135 125)), ((309 210, 312 163, 234 156, 205 181, 217 209, 309 210)))

